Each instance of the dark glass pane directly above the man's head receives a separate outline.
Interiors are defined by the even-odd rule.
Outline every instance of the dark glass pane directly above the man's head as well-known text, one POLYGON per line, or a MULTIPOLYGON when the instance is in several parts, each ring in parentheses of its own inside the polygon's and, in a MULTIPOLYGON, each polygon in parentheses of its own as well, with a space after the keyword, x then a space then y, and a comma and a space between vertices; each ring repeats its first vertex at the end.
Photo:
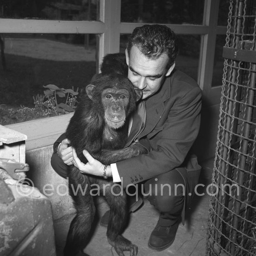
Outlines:
POLYGON ((121 0, 121 22, 202 24, 204 0, 121 0))

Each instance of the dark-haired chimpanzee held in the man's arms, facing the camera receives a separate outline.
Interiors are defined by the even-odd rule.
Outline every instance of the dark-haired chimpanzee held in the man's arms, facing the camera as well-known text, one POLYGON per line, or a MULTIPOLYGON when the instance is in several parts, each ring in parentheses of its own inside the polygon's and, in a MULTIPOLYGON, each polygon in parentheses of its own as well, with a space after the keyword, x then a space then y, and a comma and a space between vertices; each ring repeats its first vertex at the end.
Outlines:
MULTIPOLYGON (((120 54, 116 56, 119 58, 120 54)), ((115 60, 115 54, 107 55, 101 70, 104 70, 104 63, 109 64, 113 58, 115 60)), ((120 66, 117 65, 116 68, 118 67, 120 66)), ((86 87, 87 94, 79 102, 66 131, 71 146, 84 163, 88 161, 82 153, 83 149, 87 149, 105 165, 148 152, 139 143, 124 148, 128 133, 126 120, 135 110, 135 102, 140 99, 141 91, 134 88, 128 78, 122 75, 122 71, 113 72, 110 68, 106 72, 108 74, 104 72, 101 78, 86 87)), ((86 245, 95 214, 90 185, 98 184, 110 206, 108 242, 114 246, 119 256, 123 256, 123 251, 126 250, 130 251, 131 256, 136 256, 137 246, 121 236, 128 213, 126 193, 119 186, 113 186, 110 179, 81 174, 75 166, 68 173, 69 191, 77 214, 70 224, 64 255, 76 255, 86 245), (77 192, 76 195, 74 192, 77 192)))

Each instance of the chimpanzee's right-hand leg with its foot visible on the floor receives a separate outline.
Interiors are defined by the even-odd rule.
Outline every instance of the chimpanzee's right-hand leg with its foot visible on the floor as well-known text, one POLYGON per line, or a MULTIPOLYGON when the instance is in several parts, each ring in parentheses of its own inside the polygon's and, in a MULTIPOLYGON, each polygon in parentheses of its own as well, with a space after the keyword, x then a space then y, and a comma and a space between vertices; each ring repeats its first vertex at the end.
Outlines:
POLYGON ((114 246, 119 256, 124 256, 123 251, 130 251, 131 256, 136 256, 138 247, 121 236, 128 217, 127 195, 125 191, 121 186, 110 182, 110 186, 105 189, 105 197, 110 206, 107 230, 108 243, 114 246))

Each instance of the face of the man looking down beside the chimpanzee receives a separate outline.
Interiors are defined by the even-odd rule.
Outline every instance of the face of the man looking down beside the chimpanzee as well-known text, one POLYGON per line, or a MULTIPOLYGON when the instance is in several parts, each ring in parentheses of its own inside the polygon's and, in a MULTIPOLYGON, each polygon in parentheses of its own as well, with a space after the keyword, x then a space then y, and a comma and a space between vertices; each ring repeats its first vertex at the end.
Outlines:
POLYGON ((126 50, 128 65, 128 79, 134 86, 142 90, 142 99, 155 94, 161 87, 166 76, 171 74, 175 64, 167 69, 168 55, 162 54, 155 60, 149 59, 141 53, 138 47, 133 46, 130 56, 126 50))

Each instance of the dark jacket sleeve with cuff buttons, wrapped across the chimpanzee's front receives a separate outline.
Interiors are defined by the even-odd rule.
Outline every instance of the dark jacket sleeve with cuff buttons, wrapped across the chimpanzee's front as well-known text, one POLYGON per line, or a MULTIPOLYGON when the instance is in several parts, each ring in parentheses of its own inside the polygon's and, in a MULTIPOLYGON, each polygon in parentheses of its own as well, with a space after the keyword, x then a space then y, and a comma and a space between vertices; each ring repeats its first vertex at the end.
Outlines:
POLYGON ((116 163, 124 187, 181 166, 194 143, 200 127, 200 88, 193 87, 166 109, 169 113, 163 125, 153 130, 154 135, 147 135, 152 150, 116 163))

